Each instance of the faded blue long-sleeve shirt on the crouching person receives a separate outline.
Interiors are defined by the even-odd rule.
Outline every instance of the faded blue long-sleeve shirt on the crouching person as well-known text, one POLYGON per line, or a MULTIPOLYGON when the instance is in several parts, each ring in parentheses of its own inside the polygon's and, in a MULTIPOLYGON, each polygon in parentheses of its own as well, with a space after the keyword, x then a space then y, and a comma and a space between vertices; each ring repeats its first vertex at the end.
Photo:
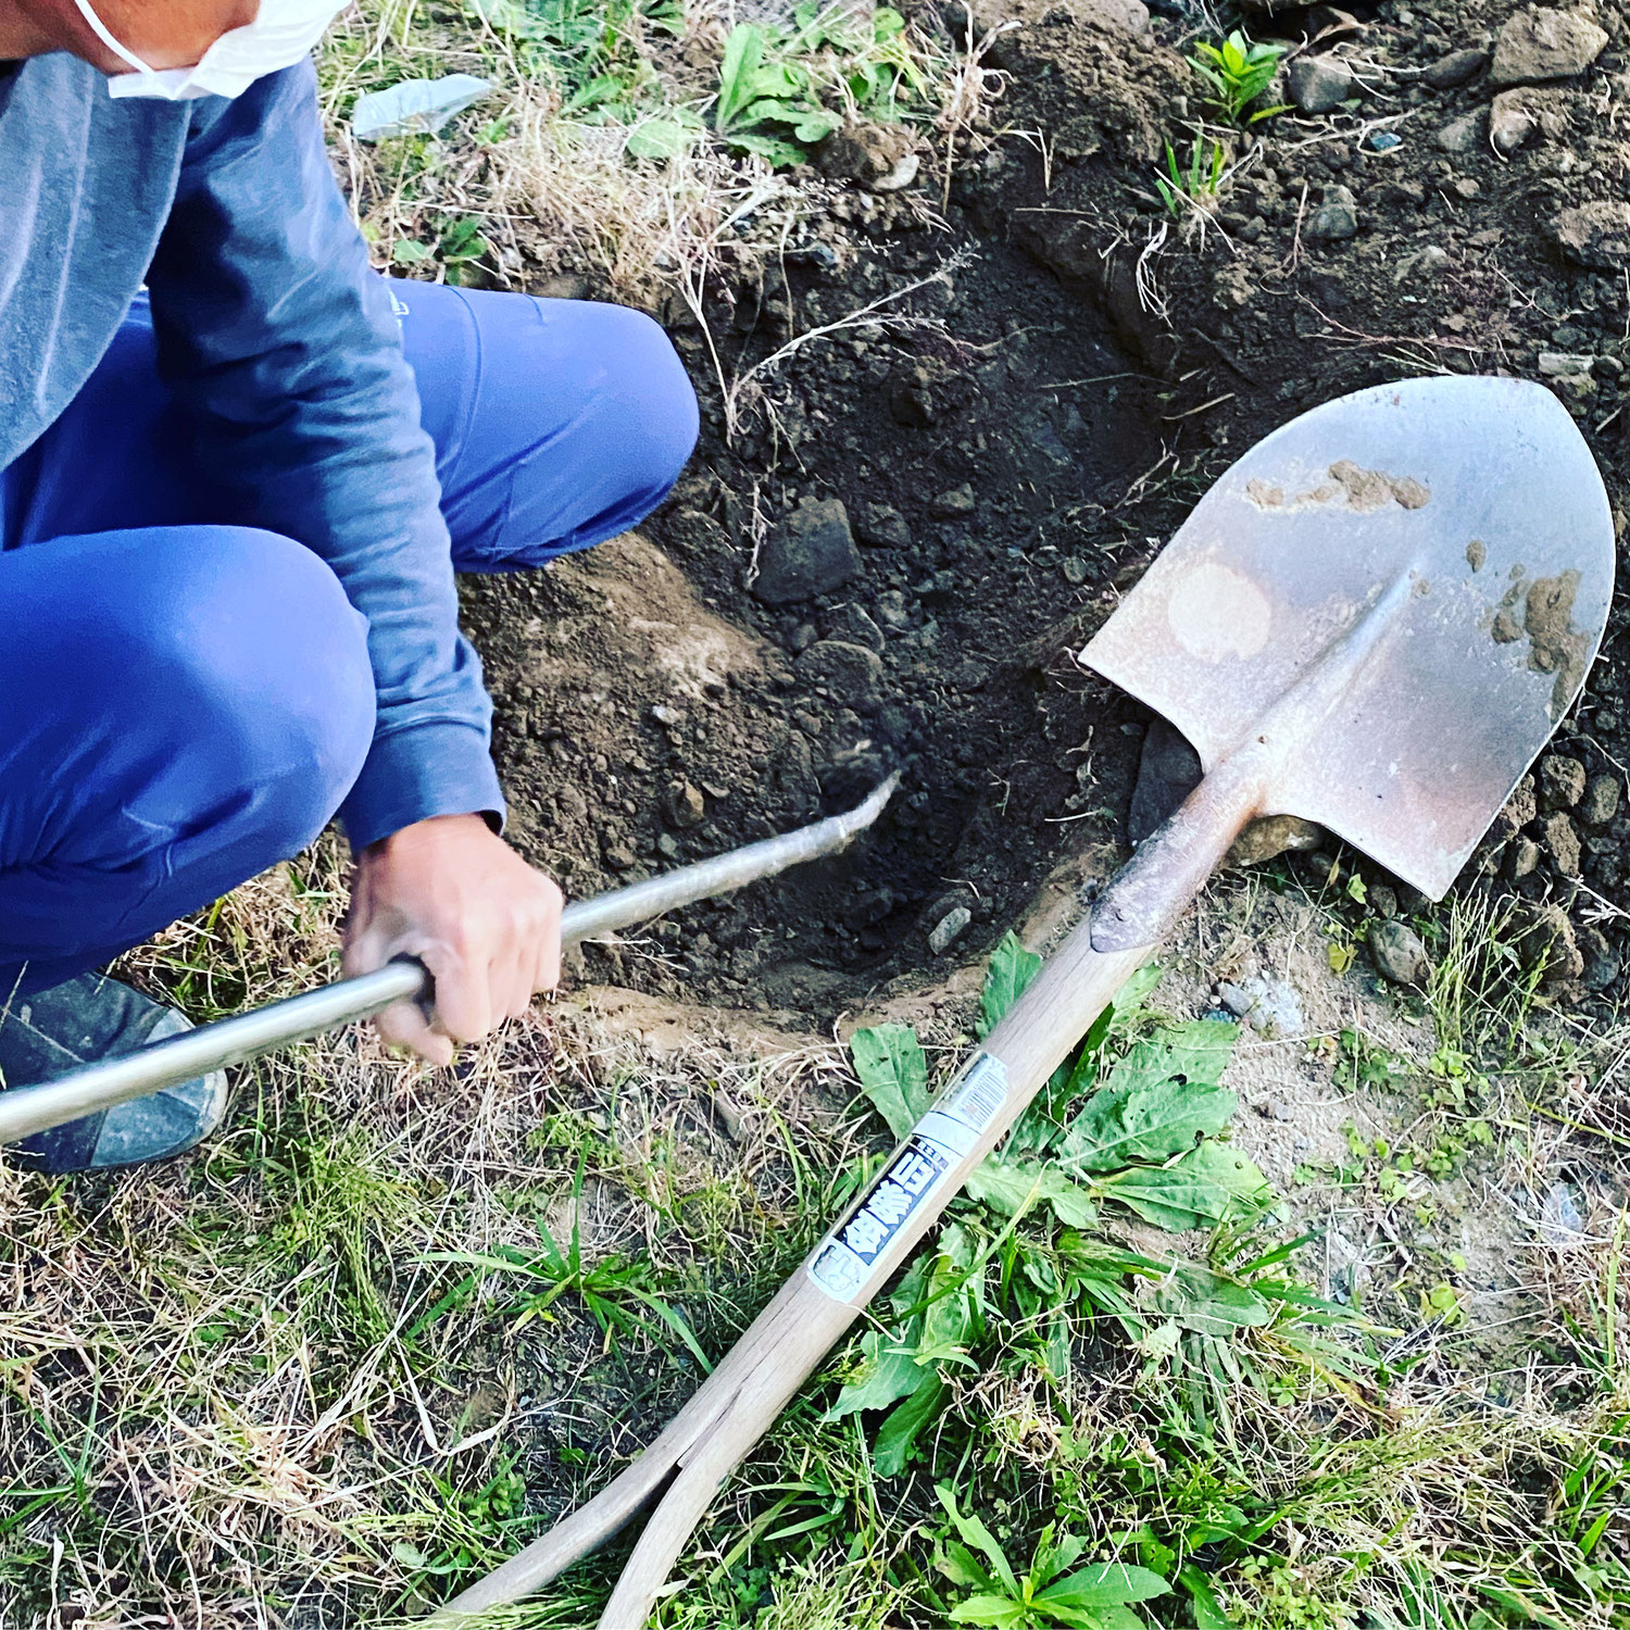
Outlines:
POLYGON ((500 813, 434 448, 308 62, 189 103, 114 101, 65 54, 0 67, 0 469, 85 385, 143 280, 231 518, 313 549, 368 619, 378 720, 341 810, 352 844, 500 813))

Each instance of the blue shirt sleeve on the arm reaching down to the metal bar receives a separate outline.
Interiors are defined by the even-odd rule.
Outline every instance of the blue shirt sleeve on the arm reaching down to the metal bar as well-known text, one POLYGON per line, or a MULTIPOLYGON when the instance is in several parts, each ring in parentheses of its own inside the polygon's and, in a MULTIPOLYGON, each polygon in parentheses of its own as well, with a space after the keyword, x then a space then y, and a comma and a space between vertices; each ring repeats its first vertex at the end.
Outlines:
POLYGON ((339 192, 310 62, 196 108, 148 274, 160 368, 233 518, 303 543, 368 619, 373 745, 354 848, 504 800, 458 632, 435 452, 385 280, 339 192))

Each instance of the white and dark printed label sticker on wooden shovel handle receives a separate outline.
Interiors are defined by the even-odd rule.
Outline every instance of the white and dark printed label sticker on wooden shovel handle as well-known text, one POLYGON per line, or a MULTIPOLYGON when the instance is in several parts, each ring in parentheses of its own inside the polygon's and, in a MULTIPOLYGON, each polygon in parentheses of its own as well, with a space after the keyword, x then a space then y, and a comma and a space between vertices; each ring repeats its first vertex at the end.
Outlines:
POLYGON ((839 1302, 877 1288, 877 1263, 895 1236, 950 1177, 1007 1102, 1007 1068, 976 1055, 866 1190, 848 1218, 817 1247, 810 1278, 839 1302))

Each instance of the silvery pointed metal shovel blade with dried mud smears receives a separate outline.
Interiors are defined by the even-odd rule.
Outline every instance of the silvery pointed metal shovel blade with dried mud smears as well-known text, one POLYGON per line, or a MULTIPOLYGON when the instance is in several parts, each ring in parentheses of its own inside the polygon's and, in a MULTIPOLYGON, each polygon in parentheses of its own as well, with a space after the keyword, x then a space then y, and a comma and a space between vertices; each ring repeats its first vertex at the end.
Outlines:
POLYGON ((1607 494, 1550 391, 1407 380, 1258 442, 1081 660, 1208 773, 1278 730, 1257 813, 1436 900, 1579 694, 1612 580, 1607 494))

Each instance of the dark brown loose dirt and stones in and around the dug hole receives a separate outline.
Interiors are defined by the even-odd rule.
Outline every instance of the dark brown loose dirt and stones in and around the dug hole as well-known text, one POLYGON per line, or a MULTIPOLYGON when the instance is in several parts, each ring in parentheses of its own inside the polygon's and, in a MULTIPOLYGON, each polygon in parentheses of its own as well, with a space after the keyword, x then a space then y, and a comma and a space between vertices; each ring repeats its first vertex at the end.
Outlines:
MULTIPOLYGON (((590 952, 601 976, 831 1012, 926 963, 952 906, 973 914, 955 954, 973 952, 1060 852, 1120 839, 1141 716, 1069 647, 1205 484, 1306 408, 1416 372, 1540 377, 1576 414, 1617 513, 1630 251, 1591 235, 1588 207, 1630 174, 1625 23, 1604 10, 1596 64, 1521 93, 1542 116, 1500 153, 1487 67, 1447 83, 1459 68, 1439 64, 1490 49, 1514 10, 1258 16, 1258 37, 1350 57, 1356 99, 1224 132, 1239 170, 1203 220, 1182 222, 1154 176, 1167 142, 1187 158, 1201 111, 1174 49, 1198 20, 1175 0, 1143 33, 1082 0, 1030 8, 993 52, 1007 72, 993 124, 1009 134, 963 142, 945 225, 926 207, 942 158, 926 155, 905 194, 838 192, 818 241, 707 306, 738 378, 789 333, 950 267, 901 300, 911 326, 807 346, 727 435, 703 336, 675 324, 707 424, 649 526, 662 553, 636 554, 668 585, 663 605, 681 579, 694 592, 659 621, 698 619, 729 659, 673 699, 673 663, 632 650, 639 595, 618 588, 616 564, 631 546, 471 585, 522 846, 587 892, 805 820, 888 766, 906 784, 849 857, 688 913, 642 947, 590 952), (965 248, 976 258, 957 266, 965 248), (859 575, 760 603, 755 546, 825 497, 861 535, 859 575), (800 660, 815 641, 880 647, 880 680, 862 675, 857 694, 846 681, 846 698, 818 686, 830 665, 800 660), (570 662, 549 668, 540 652, 556 649, 570 662)), ((1583 774, 1519 789, 1477 862, 1534 901, 1558 994, 1576 999, 1620 994, 1630 817, 1606 791, 1568 802, 1553 789, 1622 789, 1627 655, 1615 615, 1552 751, 1583 774)))

